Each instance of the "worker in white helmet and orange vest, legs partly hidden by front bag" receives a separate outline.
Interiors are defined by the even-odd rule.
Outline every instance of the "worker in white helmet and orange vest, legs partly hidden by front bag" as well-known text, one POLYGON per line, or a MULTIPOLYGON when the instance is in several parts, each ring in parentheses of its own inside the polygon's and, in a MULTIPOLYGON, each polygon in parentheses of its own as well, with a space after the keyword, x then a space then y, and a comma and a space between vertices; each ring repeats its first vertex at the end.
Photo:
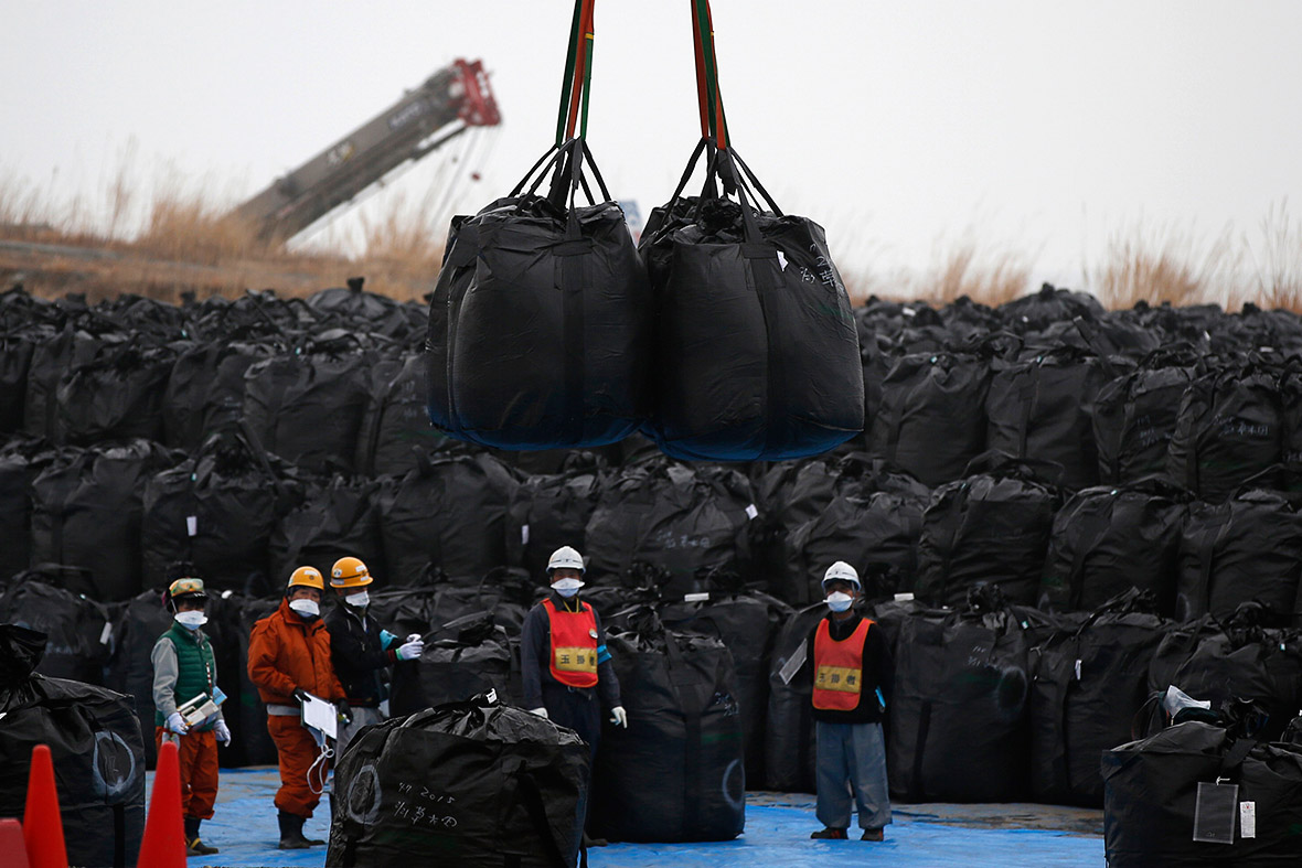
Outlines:
POLYGON ((529 610, 519 640, 525 708, 579 734, 596 760, 602 705, 611 722, 628 729, 620 681, 605 648, 602 619, 578 599, 583 558, 569 545, 552 552, 547 578, 552 593, 529 610))

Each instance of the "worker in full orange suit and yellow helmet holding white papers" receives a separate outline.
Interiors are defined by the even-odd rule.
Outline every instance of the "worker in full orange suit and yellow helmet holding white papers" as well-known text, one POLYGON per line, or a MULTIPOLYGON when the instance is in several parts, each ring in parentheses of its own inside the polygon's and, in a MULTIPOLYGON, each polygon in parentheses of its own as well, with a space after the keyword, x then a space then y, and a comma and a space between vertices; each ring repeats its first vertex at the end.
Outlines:
POLYGON ((331 661, 329 631, 320 618, 324 591, 320 570, 298 567, 289 576, 280 608, 258 621, 249 639, 249 679, 267 704, 267 731, 280 763, 275 803, 281 850, 326 843, 303 837, 303 822, 320 802, 327 760, 323 744, 302 724, 301 704, 311 694, 335 703, 342 720, 350 711, 331 661))

